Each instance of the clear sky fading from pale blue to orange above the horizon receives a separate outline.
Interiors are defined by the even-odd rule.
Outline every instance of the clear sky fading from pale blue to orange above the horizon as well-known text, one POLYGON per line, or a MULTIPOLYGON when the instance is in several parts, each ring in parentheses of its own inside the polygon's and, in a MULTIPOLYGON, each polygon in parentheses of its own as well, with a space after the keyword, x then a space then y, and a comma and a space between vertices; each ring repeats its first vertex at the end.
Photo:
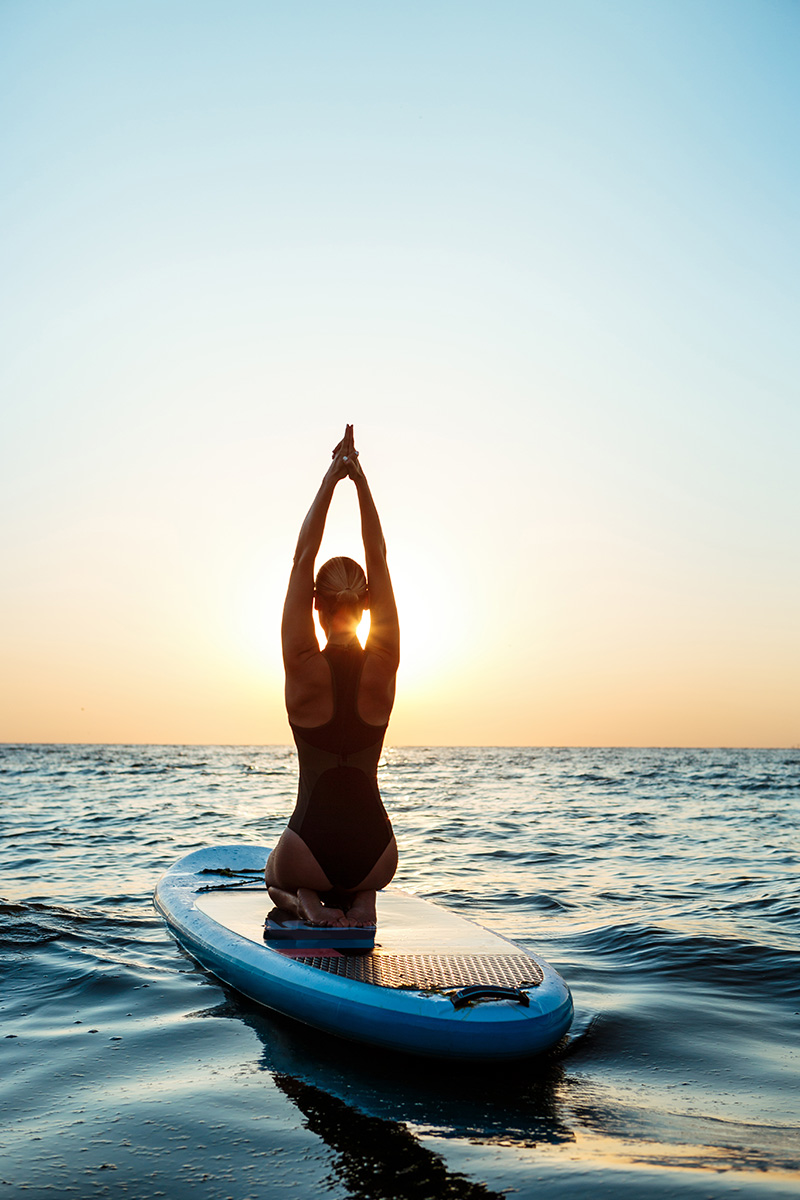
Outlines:
POLYGON ((0 740, 288 742, 351 421, 390 742, 800 743, 799 61, 794 0, 2 0, 0 740))

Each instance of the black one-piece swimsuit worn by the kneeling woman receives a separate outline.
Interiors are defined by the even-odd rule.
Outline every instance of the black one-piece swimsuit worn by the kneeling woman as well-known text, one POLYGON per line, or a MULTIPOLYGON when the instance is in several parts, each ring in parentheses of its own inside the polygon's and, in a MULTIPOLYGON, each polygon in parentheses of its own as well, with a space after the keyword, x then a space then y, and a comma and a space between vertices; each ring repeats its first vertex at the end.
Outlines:
POLYGON ((353 890, 367 877, 392 839, 378 791, 378 760, 386 725, 359 716, 359 683, 366 652, 356 640, 326 646, 333 716, 325 725, 291 726, 300 786, 289 820, 333 888, 353 890))

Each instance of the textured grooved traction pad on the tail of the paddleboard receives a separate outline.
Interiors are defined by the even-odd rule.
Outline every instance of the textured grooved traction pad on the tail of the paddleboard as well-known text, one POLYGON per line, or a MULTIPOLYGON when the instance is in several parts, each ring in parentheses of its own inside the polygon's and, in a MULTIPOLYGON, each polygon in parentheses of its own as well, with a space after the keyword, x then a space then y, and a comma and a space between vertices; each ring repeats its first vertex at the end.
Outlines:
POLYGON ((378 988, 439 991, 488 984, 537 988, 542 968, 525 954, 320 954, 291 955, 295 962, 378 988))

